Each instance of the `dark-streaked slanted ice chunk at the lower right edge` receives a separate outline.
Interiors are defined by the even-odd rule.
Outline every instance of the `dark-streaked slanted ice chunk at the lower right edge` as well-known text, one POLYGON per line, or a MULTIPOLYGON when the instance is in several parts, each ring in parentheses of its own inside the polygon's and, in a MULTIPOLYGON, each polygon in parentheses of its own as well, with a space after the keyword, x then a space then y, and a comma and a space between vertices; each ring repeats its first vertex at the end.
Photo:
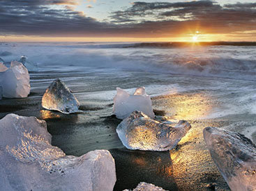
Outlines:
POLYGON ((256 147, 251 140, 216 127, 204 128, 204 140, 231 190, 256 190, 256 147))

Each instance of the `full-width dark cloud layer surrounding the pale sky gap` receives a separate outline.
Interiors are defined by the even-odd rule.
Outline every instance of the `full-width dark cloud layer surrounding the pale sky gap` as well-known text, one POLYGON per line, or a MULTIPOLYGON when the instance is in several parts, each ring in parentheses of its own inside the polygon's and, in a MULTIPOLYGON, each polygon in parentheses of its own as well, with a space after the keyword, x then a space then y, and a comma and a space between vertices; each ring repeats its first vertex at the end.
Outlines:
POLYGON ((174 37, 190 29, 208 33, 256 30, 256 3, 134 2, 98 22, 73 10, 73 0, 0 0, 0 35, 174 37))

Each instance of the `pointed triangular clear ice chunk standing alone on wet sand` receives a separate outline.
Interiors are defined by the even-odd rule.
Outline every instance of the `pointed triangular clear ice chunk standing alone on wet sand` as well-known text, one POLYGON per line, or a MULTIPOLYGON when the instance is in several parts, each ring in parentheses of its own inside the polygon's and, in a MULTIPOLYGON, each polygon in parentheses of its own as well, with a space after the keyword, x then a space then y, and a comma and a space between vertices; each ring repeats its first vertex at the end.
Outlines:
POLYGON ((45 91, 42 106, 47 110, 58 110, 66 114, 80 112, 79 102, 59 78, 54 80, 45 91))

